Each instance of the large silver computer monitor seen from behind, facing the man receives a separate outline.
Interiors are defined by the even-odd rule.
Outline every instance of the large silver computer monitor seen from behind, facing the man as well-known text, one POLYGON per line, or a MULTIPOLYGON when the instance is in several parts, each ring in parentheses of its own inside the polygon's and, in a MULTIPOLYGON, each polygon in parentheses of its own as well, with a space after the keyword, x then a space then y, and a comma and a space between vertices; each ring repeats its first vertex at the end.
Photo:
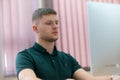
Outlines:
POLYGON ((120 74, 120 5, 87 3, 93 75, 120 74))

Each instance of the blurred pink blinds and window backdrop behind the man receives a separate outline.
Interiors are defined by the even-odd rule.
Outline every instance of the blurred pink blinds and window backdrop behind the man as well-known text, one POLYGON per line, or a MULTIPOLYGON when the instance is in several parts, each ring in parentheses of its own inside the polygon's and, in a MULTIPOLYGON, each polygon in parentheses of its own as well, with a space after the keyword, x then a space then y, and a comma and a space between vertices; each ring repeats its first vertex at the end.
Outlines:
POLYGON ((90 67, 86 4, 120 4, 120 0, 0 0, 0 80, 17 80, 16 54, 33 45, 32 13, 40 7, 57 11, 60 20, 57 48, 90 67))

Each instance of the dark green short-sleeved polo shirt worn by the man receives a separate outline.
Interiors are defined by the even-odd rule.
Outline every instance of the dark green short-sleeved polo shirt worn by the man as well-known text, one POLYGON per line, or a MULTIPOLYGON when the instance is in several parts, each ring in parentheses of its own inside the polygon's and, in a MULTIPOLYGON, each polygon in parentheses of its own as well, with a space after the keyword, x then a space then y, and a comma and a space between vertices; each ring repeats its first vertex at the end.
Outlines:
POLYGON ((65 80, 72 78, 73 73, 81 68, 78 62, 70 55, 60 52, 54 47, 52 54, 35 43, 33 47, 17 54, 17 75, 23 69, 32 69, 38 78, 43 80, 65 80))

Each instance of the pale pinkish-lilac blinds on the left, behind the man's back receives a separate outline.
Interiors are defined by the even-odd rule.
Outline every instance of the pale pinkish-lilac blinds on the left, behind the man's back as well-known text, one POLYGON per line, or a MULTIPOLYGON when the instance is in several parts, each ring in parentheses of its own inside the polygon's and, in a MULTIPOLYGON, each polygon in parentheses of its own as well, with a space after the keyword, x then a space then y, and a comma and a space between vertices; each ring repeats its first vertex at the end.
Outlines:
POLYGON ((18 51, 35 41, 31 16, 38 8, 38 0, 2 0, 3 14, 3 63, 4 73, 15 73, 15 57, 18 51), (35 5, 34 5, 35 4, 35 5))

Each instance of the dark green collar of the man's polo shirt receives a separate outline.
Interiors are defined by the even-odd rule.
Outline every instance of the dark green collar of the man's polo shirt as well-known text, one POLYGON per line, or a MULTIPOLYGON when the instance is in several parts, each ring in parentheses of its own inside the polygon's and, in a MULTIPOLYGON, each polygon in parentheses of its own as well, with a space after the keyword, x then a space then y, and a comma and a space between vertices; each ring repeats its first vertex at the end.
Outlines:
POLYGON ((47 55, 51 55, 51 56, 57 55, 57 48, 56 48, 56 46, 54 46, 54 50, 53 50, 52 54, 49 54, 47 52, 47 50, 44 47, 42 47, 41 45, 39 45, 37 42, 35 42, 35 44, 33 45, 33 48, 35 48, 37 51, 41 52, 42 54, 47 54, 47 55))

